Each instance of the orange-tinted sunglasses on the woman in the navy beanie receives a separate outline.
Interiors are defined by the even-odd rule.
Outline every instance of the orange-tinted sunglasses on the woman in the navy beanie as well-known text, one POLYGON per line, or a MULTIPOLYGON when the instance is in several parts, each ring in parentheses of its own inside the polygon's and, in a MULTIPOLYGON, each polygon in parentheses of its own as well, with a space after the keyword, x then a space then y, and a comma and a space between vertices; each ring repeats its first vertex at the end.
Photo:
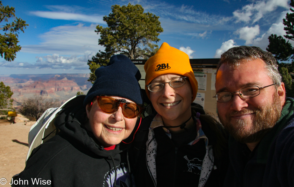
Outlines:
POLYGON ((99 107, 107 114, 112 114, 121 107, 124 117, 135 118, 143 111, 143 107, 133 102, 127 102, 125 99, 115 99, 104 95, 96 97, 99 107))

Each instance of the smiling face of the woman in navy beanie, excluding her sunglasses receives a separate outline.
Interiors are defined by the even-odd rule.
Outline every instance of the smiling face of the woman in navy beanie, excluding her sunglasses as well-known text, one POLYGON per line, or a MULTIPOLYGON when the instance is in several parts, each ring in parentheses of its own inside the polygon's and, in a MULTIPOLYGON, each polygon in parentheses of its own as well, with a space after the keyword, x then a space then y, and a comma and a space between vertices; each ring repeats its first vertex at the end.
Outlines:
MULTIPOLYGON (((125 99, 127 102, 132 102, 129 99, 110 96, 115 99, 125 99)), ((123 116, 122 108, 112 114, 104 113, 97 100, 93 101, 93 105, 86 106, 86 112, 89 119, 89 128, 96 137, 99 143, 103 146, 112 146, 119 144, 132 133, 137 118, 128 119, 123 116)))

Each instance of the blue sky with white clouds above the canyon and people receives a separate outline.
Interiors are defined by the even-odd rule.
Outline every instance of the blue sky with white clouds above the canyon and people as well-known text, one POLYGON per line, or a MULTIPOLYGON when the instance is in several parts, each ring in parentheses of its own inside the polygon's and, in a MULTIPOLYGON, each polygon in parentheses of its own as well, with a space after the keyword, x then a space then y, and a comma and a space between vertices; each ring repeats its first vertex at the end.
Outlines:
MULTIPOLYGON (((19 34, 20 52, 12 62, 0 59, 0 76, 10 74, 89 73, 88 59, 98 50, 98 24, 115 4, 140 4, 160 16, 162 42, 190 58, 218 58, 233 46, 266 50, 268 36, 284 35, 290 0, 4 0, 29 26, 19 34)), ((292 43, 293 44, 293 43, 292 43)))

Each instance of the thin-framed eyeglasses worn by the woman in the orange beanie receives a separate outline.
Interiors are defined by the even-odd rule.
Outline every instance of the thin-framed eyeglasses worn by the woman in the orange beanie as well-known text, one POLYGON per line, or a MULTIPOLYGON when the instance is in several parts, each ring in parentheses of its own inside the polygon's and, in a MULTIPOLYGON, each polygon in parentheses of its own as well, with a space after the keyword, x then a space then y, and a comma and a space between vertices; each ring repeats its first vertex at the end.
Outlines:
POLYGON ((154 82, 150 85, 146 85, 146 87, 149 89, 149 91, 151 92, 159 92, 160 90, 163 89, 164 85, 166 83, 168 83, 171 87, 173 88, 179 88, 181 86, 183 86, 185 83, 186 83, 186 79, 188 77, 178 77, 178 78, 174 78, 172 79, 170 82, 164 82, 164 83, 161 83, 161 82, 154 82))

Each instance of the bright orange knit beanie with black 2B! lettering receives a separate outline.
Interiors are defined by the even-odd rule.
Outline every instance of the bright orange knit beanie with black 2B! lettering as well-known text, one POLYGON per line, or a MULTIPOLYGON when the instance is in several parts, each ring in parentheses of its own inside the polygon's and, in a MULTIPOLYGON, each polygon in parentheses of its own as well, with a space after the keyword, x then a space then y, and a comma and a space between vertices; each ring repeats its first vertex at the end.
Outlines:
MULTIPOLYGON (((190 65, 189 56, 183 51, 163 42, 156 54, 146 61, 144 69, 146 72, 145 85, 149 85, 154 78, 164 74, 187 76, 193 91, 192 102, 196 98, 198 83, 190 65)), ((145 90, 150 99, 149 90, 146 87, 145 90)))

